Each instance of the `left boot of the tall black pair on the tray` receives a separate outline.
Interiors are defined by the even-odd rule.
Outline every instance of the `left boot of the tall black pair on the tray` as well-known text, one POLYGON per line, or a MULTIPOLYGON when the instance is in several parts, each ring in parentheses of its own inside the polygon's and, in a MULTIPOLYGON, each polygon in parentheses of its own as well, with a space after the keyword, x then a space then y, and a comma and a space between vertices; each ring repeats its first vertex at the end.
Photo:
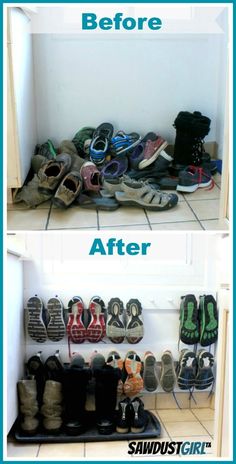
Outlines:
POLYGON ((63 395, 65 403, 65 429, 69 435, 79 435, 86 428, 86 390, 91 369, 84 367, 82 356, 76 356, 64 370, 63 395))

